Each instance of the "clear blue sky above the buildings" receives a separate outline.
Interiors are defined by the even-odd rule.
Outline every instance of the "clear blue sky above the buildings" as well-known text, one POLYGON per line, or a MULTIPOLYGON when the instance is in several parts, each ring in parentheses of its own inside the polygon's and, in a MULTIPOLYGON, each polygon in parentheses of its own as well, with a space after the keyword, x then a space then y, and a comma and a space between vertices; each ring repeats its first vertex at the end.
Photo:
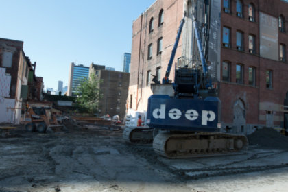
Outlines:
POLYGON ((132 22, 156 0, 0 0, 0 38, 22 40, 45 88, 67 85, 69 64, 122 71, 132 22))

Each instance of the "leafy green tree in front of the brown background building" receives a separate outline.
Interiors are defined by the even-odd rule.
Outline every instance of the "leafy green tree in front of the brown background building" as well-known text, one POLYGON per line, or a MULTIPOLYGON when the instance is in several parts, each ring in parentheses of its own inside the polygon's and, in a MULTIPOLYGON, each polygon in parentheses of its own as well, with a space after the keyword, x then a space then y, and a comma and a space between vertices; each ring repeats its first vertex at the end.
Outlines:
POLYGON ((97 80, 95 75, 91 73, 89 78, 84 78, 80 82, 80 86, 76 88, 77 99, 76 103, 85 108, 90 114, 98 112, 100 93, 100 80, 97 80))

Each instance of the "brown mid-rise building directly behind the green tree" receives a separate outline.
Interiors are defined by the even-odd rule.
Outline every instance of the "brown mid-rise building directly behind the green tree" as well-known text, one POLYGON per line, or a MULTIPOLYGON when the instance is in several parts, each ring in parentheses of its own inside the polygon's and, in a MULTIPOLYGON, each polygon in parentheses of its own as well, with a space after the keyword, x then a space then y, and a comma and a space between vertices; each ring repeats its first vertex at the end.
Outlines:
POLYGON ((91 64, 89 73, 101 80, 100 91, 103 97, 99 100, 99 115, 119 115, 122 119, 126 112, 128 97, 129 73, 106 70, 105 66, 91 64), (104 67, 104 68, 103 68, 104 67))

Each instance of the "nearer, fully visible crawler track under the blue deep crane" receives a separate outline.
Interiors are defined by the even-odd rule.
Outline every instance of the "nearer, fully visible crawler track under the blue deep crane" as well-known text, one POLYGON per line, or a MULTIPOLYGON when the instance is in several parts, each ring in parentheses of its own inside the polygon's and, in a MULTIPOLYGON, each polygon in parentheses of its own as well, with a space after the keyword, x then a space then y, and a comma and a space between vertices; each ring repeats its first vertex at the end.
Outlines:
POLYGON ((153 141, 154 152, 167 158, 239 154, 247 148, 248 139, 243 135, 214 132, 160 133, 153 141))

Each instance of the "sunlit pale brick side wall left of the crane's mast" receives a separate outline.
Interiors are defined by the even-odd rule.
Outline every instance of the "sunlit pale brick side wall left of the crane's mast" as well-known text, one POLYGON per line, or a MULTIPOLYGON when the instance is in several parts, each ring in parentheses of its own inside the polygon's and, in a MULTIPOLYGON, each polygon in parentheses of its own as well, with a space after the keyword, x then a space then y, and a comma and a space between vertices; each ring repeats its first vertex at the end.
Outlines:
MULTIPOLYGON (((147 109, 147 99, 152 94, 150 86, 147 84, 147 72, 151 71, 152 75, 156 75, 156 69, 160 67, 160 77, 162 78, 165 75, 173 43, 183 16, 182 10, 182 1, 156 1, 133 22, 129 106, 132 106, 134 110, 147 109), (163 10, 163 23, 159 25, 161 10, 163 10), (153 31, 149 32, 149 23, 152 18, 153 31), (160 54, 157 53, 159 38, 163 38, 160 54), (152 58, 148 60, 148 45, 150 44, 152 44, 152 58)), ((175 58, 181 56, 181 46, 182 40, 178 44, 175 58)), ((173 74, 174 71, 172 70, 171 77, 173 77, 173 74)))

